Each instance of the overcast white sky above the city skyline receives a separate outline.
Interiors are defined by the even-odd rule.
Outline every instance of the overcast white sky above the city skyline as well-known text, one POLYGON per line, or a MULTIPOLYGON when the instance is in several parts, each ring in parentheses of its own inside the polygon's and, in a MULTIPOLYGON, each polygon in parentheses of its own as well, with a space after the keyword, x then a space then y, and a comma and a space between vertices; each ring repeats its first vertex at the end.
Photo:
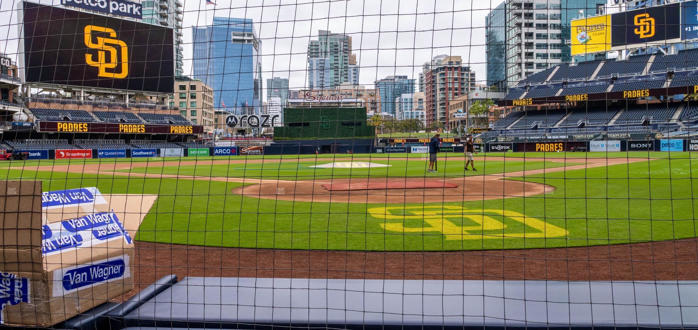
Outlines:
MULTIPOLYGON (((20 0, 0 0, 0 51, 17 53, 20 0)), ((39 0, 34 0, 39 1, 39 0)), ((486 80, 484 17, 500 0, 180 0, 184 3, 184 57, 191 59, 191 27, 214 16, 250 18, 262 39, 262 76, 307 85, 307 46, 318 30, 346 33, 359 62, 359 82, 388 75, 417 79, 422 63, 438 54, 463 57, 477 80, 486 80)), ((59 5, 60 0, 40 0, 59 5)), ((191 75, 191 61, 184 63, 191 75)), ((264 82, 266 86, 266 82, 264 82)))

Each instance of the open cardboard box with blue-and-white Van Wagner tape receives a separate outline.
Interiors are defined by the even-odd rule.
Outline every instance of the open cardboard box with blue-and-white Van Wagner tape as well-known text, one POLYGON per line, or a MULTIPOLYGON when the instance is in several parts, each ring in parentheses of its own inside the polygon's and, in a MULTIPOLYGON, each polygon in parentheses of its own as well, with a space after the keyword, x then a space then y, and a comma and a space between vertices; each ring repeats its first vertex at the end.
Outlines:
POLYGON ((133 289, 133 237, 156 195, 0 181, 0 324, 48 327, 133 289))

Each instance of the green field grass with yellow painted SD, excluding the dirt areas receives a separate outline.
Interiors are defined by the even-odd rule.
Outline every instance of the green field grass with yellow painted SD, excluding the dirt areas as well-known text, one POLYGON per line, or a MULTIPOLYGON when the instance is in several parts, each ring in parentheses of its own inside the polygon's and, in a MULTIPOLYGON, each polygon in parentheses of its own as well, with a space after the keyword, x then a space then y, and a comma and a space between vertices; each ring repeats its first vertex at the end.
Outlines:
MULTIPOLYGON (((496 154, 489 154, 494 155, 496 154)), ((312 156, 313 158, 301 158, 303 160, 292 164, 315 163, 315 155, 312 156)), ((343 155, 337 156, 346 158, 343 155)), ((370 160, 367 156, 353 156, 355 160, 370 160)), ((406 155, 402 155, 402 160, 371 160, 374 163, 394 165, 387 172, 373 172, 380 168, 371 168, 371 177, 374 174, 424 177, 424 163, 417 159, 406 161, 404 156, 406 155), (411 167, 413 163, 415 168, 411 167)), ((520 157, 523 153, 501 153, 498 156, 520 157)), ((579 159, 579 156, 630 156, 647 160, 515 178, 556 187, 549 194, 484 202, 428 204, 330 204, 267 200, 230 192, 242 183, 157 177, 128 178, 126 173, 119 172, 96 175, 57 170, 10 170, 6 167, 8 163, 1 163, 5 167, 0 169, 0 177, 41 179, 45 183, 45 191, 97 186, 103 193, 157 194, 160 197, 146 216, 136 239, 161 243, 243 248, 438 251, 591 246, 698 236, 695 220, 698 160, 691 160, 688 153, 526 153, 527 158, 535 158, 526 163, 516 159, 487 160, 484 172, 552 167, 554 164, 540 157, 561 156, 572 158, 567 161, 567 165, 579 162, 574 160, 579 159), (465 235, 461 227, 467 228, 465 235), (455 234, 454 228, 458 230, 458 234, 455 234)), ((317 163, 332 161, 329 156, 323 155, 321 158, 317 163)), ((242 165, 262 163, 259 158, 247 159, 250 161, 242 165)), ((273 166, 278 166, 279 162, 273 160, 279 158, 265 156, 263 163, 267 164, 267 159, 272 160, 269 162, 272 168, 262 168, 261 177, 295 179, 295 173, 302 171, 276 170, 273 166)), ((487 158, 477 158, 480 164, 485 159, 487 158)), ((260 170, 231 170, 231 167, 240 164, 197 165, 191 168, 167 166, 169 162, 174 164, 178 160, 156 160, 152 164, 156 167, 152 169, 161 172, 179 171, 179 174, 187 172, 186 175, 200 175, 200 171, 208 171, 209 174, 205 174, 207 176, 241 172, 239 175, 260 177, 260 170)), ((131 160, 110 160, 111 163, 114 161, 122 163, 131 160)), ((12 166, 110 162, 42 160, 13 162, 12 166)), ((447 175, 456 175, 458 167, 461 167, 462 174, 462 158, 445 160, 445 163, 447 175)), ((352 169, 351 172, 325 170, 329 171, 331 177, 369 175, 367 172, 355 172, 357 169, 352 169)), ((304 171, 308 172, 303 173, 314 172, 315 177, 327 176, 319 170, 304 171)), ((135 172, 134 169, 131 172, 135 172)))

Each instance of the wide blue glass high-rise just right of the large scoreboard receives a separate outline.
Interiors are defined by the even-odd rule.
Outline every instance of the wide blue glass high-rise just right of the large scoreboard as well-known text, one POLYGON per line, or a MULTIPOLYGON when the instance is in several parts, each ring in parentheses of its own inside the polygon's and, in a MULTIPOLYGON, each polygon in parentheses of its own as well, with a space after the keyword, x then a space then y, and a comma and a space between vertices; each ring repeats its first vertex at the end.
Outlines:
POLYGON ((262 43, 252 20, 214 17, 193 28, 193 77, 214 89, 214 107, 232 114, 260 114, 262 43))

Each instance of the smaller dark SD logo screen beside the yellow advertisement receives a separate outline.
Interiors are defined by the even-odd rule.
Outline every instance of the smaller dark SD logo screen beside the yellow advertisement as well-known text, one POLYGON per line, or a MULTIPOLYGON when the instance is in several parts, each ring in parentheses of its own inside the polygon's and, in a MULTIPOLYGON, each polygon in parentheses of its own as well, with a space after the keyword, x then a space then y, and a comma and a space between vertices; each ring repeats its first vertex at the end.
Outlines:
POLYGON ((681 3, 611 14, 611 50, 676 43, 681 40, 681 3))

